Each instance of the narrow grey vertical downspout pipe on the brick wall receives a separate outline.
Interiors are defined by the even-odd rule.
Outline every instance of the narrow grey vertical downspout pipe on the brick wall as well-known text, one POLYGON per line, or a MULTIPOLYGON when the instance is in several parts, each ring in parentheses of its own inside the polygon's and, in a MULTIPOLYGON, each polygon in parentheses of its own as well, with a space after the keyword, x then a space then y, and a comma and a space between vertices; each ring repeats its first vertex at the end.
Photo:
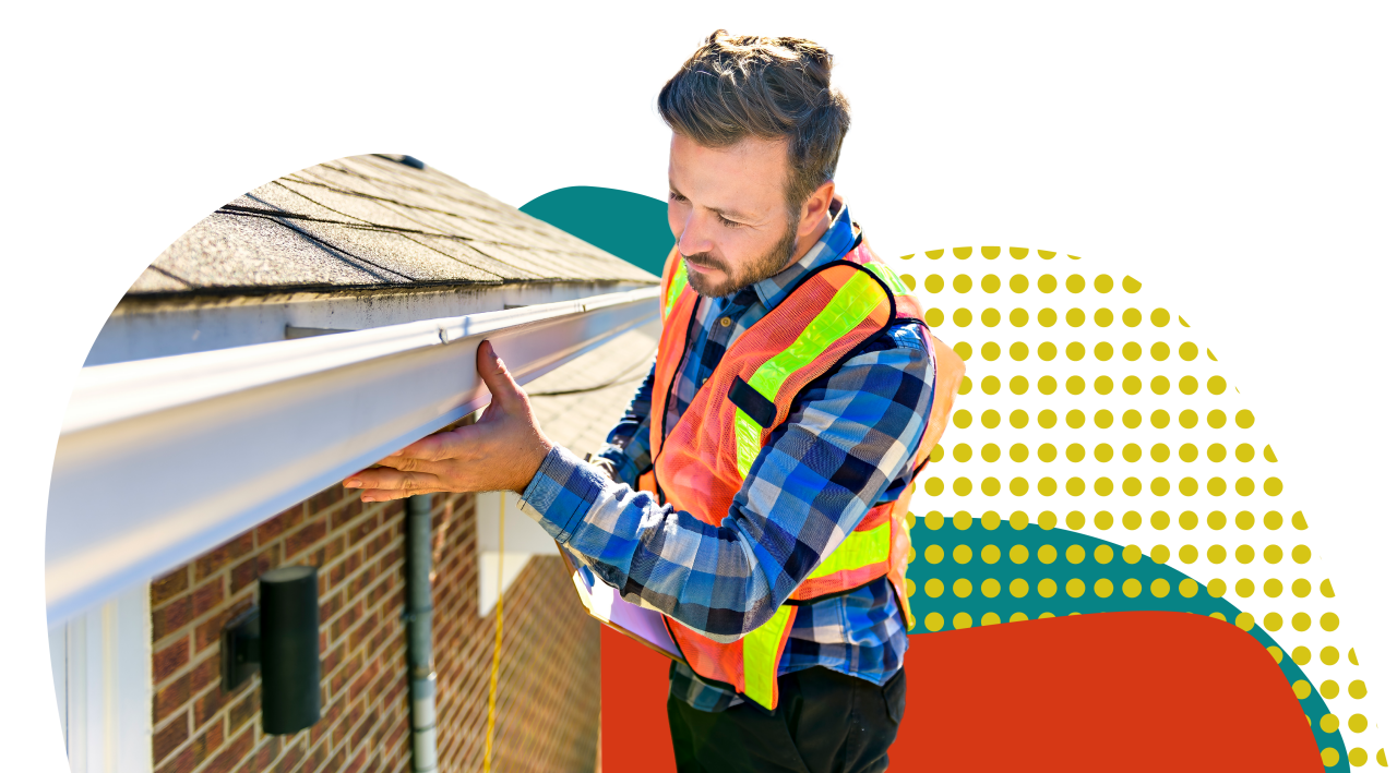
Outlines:
POLYGON ((432 670, 432 495, 408 497, 408 682, 412 770, 436 773, 436 671, 432 670))

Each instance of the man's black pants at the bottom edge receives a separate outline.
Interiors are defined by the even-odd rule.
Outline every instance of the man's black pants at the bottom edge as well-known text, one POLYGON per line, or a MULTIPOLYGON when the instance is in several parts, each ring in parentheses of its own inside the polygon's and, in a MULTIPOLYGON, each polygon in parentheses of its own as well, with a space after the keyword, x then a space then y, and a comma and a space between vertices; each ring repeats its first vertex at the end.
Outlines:
POLYGON ((679 773, 743 770, 879 773, 907 699, 898 671, 888 682, 806 668, 777 680, 775 716, 750 702, 700 712, 669 698, 669 734, 679 773))

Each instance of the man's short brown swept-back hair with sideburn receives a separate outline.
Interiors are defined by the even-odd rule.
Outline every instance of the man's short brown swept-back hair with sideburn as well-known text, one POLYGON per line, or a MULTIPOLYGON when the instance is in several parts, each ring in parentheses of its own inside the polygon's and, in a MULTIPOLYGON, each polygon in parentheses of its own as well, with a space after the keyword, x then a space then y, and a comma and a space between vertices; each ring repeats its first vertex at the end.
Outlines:
POLYGON ((813 40, 728 35, 718 29, 659 89, 659 114, 707 148, 747 137, 788 140, 787 207, 834 179, 849 103, 830 85, 834 57, 813 40))

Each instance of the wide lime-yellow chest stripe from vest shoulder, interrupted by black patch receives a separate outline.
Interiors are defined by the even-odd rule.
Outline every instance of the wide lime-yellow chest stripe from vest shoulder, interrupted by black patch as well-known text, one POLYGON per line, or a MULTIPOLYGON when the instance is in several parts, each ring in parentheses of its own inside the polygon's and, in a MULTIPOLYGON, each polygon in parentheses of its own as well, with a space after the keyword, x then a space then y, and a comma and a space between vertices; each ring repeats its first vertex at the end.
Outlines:
MULTIPOLYGON (((854 273, 842 287, 834 293, 830 303, 810 320, 810 324, 800 331, 795 342, 785 350, 778 352, 752 374, 747 384, 764 398, 775 402, 777 392, 792 373, 803 368, 823 354, 834 342, 848 335, 859 322, 877 308, 879 301, 886 299, 877 282, 862 271, 854 273)), ((743 477, 752 470, 752 463, 757 460, 760 444, 743 441, 743 435, 756 428, 760 437, 760 426, 740 407, 736 412, 735 430, 738 437, 738 472, 743 477), (750 427, 749 427, 750 424, 750 427)))

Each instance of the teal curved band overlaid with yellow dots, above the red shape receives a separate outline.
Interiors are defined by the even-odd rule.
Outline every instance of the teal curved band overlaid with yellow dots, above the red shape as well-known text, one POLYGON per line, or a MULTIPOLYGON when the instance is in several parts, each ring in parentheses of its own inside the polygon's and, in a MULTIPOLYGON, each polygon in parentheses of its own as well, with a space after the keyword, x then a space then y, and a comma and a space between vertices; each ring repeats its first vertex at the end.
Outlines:
MULTIPOLYGON (((995 522, 990 520, 990 523, 995 522)), ((986 613, 995 613, 1000 621, 1006 622, 1014 613, 1023 613, 1030 620, 1035 620, 1045 613, 1060 617, 1073 613, 1127 610, 1164 610, 1201 615, 1221 613, 1228 622, 1235 622, 1242 613, 1228 601, 1214 599, 1207 592, 1206 583, 1197 582, 1178 569, 1155 564, 1148 555, 1141 555, 1130 562, 1125 557, 1123 546, 1066 529, 1042 529, 1031 523, 1023 529, 1014 529, 1007 519, 988 527, 981 518, 971 518, 967 529, 958 529, 953 519, 932 513, 928 519, 916 519, 911 536, 915 557, 907 568, 907 578, 916 583, 916 592, 909 599, 912 615, 916 618, 914 633, 932 633, 926 631, 923 622, 930 613, 939 613, 944 618, 946 628, 943 629, 953 629, 951 620, 957 613, 968 613, 975 621, 974 625, 979 625, 981 615, 986 613), (933 546, 943 553, 937 562, 929 560, 935 555, 928 557, 926 554, 928 548, 933 546), (970 550, 970 560, 964 564, 956 557, 956 548, 961 546, 970 550), (985 560, 983 551, 989 546, 999 550, 999 558, 993 562, 985 560), (1017 564, 1010 557, 1010 550, 1014 546, 1023 546, 1028 553, 1028 558, 1023 564, 1017 564), (1081 548, 1080 562, 1069 560, 1067 551, 1074 546, 1081 548), (1106 558, 1105 551, 1102 551, 1102 558, 1106 560, 1098 562, 1095 553, 1097 547, 1101 546, 1108 547, 1111 555, 1106 558), (1052 548, 1052 561, 1039 561, 1038 551, 1044 547, 1052 548), (926 593, 926 582, 930 579, 939 579, 944 586, 939 597, 933 599, 926 593), (956 596, 954 592, 954 583, 960 579, 971 583, 971 590, 964 599, 956 596), (1000 583, 999 593, 993 597, 982 593, 982 583, 988 579, 1000 583), (1010 592, 1013 579, 1024 579, 1028 583, 1028 593, 1024 597, 1016 599, 1010 592), (1042 579, 1051 579, 1056 583, 1056 593, 1051 597, 1038 594, 1038 582, 1042 579), (1080 597, 1073 599, 1067 594, 1067 580, 1071 579, 1080 579, 1085 585, 1080 597), (1104 599, 1092 590, 1098 579, 1106 579, 1112 583, 1111 594, 1104 599), (1123 593, 1127 579, 1139 580, 1141 585, 1140 594, 1134 599, 1123 593), (1157 579, 1169 583, 1169 592, 1162 597, 1154 596, 1150 590, 1151 583, 1157 579), (1180 593, 1185 580, 1194 583, 1196 590, 1192 596, 1180 593)), ((1073 554, 1076 557, 1076 551, 1073 554)), ((961 557, 964 555, 963 550, 961 557)), ((1315 742, 1319 748, 1333 748, 1338 752, 1338 763, 1326 770, 1350 770, 1348 749, 1344 746, 1343 734, 1338 730, 1324 733, 1320 727, 1319 717, 1330 712, 1324 698, 1313 686, 1315 682, 1291 659, 1289 653, 1261 628, 1260 622, 1252 625, 1248 633, 1263 647, 1277 647, 1282 653, 1278 666, 1287 682, 1294 685, 1305 680, 1312 685, 1309 696, 1301 698, 1299 703, 1305 714, 1310 717, 1310 731, 1315 734, 1315 742)))

